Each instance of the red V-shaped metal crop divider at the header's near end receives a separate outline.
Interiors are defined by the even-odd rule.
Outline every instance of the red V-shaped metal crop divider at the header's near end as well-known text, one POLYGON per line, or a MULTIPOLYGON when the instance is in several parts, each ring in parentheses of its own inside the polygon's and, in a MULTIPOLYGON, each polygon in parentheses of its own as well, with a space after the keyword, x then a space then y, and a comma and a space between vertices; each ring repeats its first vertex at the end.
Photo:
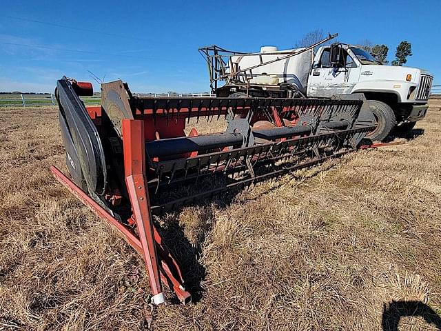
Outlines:
POLYGON ((150 200, 145 181, 145 141, 144 123, 141 120, 123 119, 123 152, 125 183, 132 204, 132 219, 135 220, 139 236, 132 229, 117 221, 110 212, 83 192, 63 172, 50 167, 54 177, 123 236, 145 261, 155 305, 165 302, 161 279, 170 285, 179 301, 189 303, 192 296, 184 288, 184 281, 178 263, 163 243, 163 239, 152 222, 150 200))

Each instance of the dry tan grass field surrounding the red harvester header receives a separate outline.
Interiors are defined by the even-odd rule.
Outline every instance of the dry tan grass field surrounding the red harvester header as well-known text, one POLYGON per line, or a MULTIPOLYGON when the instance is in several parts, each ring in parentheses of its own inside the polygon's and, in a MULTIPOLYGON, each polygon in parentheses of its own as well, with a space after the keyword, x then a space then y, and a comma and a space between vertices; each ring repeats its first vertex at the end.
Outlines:
POLYGON ((154 310, 141 257, 50 174, 56 108, 0 108, 0 330, 441 330, 431 106, 405 145, 156 219, 195 302, 154 310))

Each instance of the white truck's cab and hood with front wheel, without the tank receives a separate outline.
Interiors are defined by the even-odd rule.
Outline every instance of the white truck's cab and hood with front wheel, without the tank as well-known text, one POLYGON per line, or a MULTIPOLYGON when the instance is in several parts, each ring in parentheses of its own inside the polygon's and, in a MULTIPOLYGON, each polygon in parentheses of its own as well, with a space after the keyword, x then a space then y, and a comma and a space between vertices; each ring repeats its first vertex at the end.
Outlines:
POLYGON ((377 121, 371 139, 382 140, 397 125, 411 130, 424 118, 433 76, 426 70, 385 66, 357 46, 318 49, 309 72, 308 97, 364 93, 377 121))

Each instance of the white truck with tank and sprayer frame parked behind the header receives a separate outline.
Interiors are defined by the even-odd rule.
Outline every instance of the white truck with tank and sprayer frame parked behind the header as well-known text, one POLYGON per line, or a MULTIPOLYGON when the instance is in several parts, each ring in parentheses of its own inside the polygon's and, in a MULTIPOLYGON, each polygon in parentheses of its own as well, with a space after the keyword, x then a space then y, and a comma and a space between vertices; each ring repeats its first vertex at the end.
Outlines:
POLYGON ((329 98, 364 93, 377 124, 368 137, 379 141, 395 127, 411 130, 427 112, 433 81, 429 72, 382 65, 358 46, 334 43, 318 48, 316 54, 312 47, 277 50, 263 46, 256 53, 230 52, 218 46, 210 50, 214 50, 210 81, 218 97, 329 98), (227 61, 216 63, 219 54, 227 54, 227 61), (225 85, 218 87, 220 80, 225 85))

